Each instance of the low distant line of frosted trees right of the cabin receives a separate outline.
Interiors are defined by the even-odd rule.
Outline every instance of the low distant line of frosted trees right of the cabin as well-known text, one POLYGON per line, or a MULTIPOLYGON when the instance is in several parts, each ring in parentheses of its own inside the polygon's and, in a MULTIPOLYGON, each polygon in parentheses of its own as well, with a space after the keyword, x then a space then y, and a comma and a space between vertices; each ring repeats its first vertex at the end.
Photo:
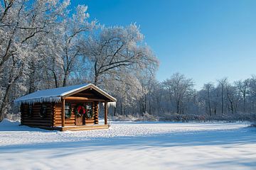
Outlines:
POLYGON ((256 77, 230 83, 228 78, 204 84, 173 74, 170 79, 144 81, 146 94, 133 106, 117 105, 121 115, 154 115, 161 120, 256 120, 256 77))

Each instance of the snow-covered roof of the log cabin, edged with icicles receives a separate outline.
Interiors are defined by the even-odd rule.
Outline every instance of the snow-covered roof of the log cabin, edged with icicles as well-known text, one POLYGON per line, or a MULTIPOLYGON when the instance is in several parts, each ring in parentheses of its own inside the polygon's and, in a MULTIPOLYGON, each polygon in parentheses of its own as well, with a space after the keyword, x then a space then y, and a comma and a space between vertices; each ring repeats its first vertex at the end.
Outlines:
POLYGON ((61 97, 65 97, 65 96, 68 96, 69 94, 74 94, 75 92, 83 91, 89 88, 95 89, 97 92, 99 92, 103 96, 109 98, 110 101, 113 101, 113 102, 117 101, 116 98, 110 96, 110 94, 107 94, 105 91, 102 91, 102 89, 98 88, 93 84, 78 84, 74 86, 64 86, 64 87, 58 87, 55 89, 36 91, 32 94, 28 94, 26 96, 17 98, 14 101, 14 103, 21 104, 21 103, 37 103, 37 102, 39 103, 59 102, 61 100, 61 97))

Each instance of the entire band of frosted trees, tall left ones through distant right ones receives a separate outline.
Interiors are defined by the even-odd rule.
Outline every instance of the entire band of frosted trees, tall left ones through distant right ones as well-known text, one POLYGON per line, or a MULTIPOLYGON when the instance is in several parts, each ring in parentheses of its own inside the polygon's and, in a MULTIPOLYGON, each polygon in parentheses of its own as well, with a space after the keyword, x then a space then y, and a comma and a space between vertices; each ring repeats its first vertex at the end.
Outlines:
POLYGON ((193 79, 173 74, 156 81, 159 67, 138 26, 105 27, 87 6, 70 1, 0 1, 0 121, 16 113, 14 99, 41 89, 93 83, 117 98, 112 115, 255 113, 256 77, 220 79, 196 91, 193 79))

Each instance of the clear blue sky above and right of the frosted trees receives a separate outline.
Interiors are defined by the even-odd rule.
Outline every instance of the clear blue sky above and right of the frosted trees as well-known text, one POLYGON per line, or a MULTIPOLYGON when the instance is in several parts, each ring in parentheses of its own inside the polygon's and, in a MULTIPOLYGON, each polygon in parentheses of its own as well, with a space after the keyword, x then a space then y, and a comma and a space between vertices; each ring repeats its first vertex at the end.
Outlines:
POLYGON ((105 26, 136 22, 160 60, 156 78, 175 72, 208 81, 256 74, 255 0, 73 0, 105 26))

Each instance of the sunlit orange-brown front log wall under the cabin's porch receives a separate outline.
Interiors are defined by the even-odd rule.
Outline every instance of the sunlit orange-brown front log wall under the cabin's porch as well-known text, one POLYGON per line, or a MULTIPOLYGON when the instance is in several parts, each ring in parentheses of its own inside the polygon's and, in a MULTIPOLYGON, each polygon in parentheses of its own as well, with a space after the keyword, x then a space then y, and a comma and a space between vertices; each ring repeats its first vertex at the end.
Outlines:
MULTIPOLYGON (((65 118, 65 126, 70 126, 70 125, 75 125, 75 111, 74 108, 75 106, 78 105, 78 103, 86 103, 83 101, 68 101, 65 100, 65 103, 70 103, 72 113, 70 118, 65 118)), ((55 103, 55 106, 53 107, 53 126, 61 126, 61 108, 62 108, 62 103, 55 103)), ((85 119, 85 125, 94 125, 98 124, 98 102, 92 102, 92 111, 94 113, 94 118, 86 118, 85 119)))

